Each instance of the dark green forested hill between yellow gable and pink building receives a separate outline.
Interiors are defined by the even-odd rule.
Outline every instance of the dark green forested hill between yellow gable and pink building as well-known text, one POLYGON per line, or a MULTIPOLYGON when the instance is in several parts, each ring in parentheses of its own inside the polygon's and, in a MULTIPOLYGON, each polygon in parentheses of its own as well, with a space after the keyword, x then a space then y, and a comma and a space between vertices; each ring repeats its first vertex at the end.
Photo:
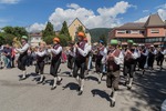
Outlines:
POLYGON ((108 37, 108 32, 111 31, 111 28, 94 28, 94 29, 89 29, 91 33, 91 40, 92 42, 98 42, 101 36, 108 37))

